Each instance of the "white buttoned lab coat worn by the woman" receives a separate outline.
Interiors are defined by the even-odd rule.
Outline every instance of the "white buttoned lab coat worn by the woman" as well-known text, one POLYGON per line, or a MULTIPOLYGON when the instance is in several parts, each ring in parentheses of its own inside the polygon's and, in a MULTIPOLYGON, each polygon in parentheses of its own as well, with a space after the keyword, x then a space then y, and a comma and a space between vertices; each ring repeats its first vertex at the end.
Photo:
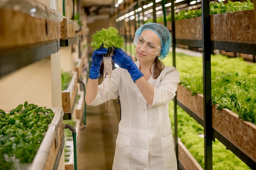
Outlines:
MULTIPOLYGON (((139 67, 139 62, 135 63, 139 67)), ((152 73, 154 68, 155 64, 152 73)), ((112 170, 177 170, 168 105, 175 96, 180 75, 173 66, 165 67, 157 79, 151 76, 148 82, 154 87, 151 106, 128 71, 116 68, 110 84, 106 78, 90 104, 97 106, 109 99, 120 99, 121 121, 112 170)))

